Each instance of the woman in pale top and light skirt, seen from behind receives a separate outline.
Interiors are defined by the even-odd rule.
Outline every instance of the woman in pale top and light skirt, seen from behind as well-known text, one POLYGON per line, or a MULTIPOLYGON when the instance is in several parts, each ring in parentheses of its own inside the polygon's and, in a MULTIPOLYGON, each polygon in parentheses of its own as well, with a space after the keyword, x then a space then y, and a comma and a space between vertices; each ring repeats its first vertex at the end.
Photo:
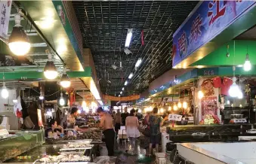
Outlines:
POLYGON ((126 129, 126 135, 131 141, 131 152, 133 153, 135 150, 135 141, 136 138, 140 137, 140 132, 137 129, 139 126, 139 120, 137 120, 137 117, 135 117, 135 110, 132 109, 130 111, 130 115, 126 117, 125 120, 125 129, 126 129))

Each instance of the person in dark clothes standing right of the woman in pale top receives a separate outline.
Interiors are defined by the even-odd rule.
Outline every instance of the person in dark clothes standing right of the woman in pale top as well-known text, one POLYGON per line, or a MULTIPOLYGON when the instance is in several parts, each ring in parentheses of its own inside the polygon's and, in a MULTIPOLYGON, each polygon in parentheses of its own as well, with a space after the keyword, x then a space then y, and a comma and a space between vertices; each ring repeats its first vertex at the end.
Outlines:
POLYGON ((158 108, 153 108, 153 114, 150 116, 150 156, 152 151, 153 144, 156 145, 156 152, 159 152, 159 143, 161 139, 160 126, 162 126, 163 122, 166 120, 162 120, 162 117, 158 116, 158 108))

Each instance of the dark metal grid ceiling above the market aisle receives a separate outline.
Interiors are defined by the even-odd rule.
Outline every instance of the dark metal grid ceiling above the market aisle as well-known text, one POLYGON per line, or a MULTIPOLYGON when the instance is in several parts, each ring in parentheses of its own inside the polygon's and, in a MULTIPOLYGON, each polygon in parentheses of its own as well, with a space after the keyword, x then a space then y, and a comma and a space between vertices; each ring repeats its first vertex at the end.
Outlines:
POLYGON ((125 95, 141 93, 150 82, 171 69, 172 35, 184 22, 198 2, 184 1, 126 1, 72 2, 83 35, 83 46, 91 48, 97 77, 103 93, 118 95, 129 80, 125 95), (127 30, 133 38, 125 54, 127 30), (141 44, 141 31, 144 45, 141 44), (137 59, 143 62, 137 71, 137 59), (114 70, 111 65, 122 68, 114 70), (111 81, 111 83, 107 81, 111 81), (103 82, 105 81, 105 82, 103 82))

